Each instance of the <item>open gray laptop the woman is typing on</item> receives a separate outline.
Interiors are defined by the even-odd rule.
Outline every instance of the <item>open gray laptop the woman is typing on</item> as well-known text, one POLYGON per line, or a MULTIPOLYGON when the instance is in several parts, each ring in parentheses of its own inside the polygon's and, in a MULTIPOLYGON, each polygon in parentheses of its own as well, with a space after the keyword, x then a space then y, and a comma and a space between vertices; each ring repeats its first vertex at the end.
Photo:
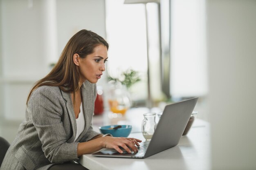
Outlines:
POLYGON ((186 128, 198 97, 166 105, 150 141, 141 142, 137 153, 125 151, 120 154, 115 149, 100 150, 94 157, 146 158, 176 146, 186 128))

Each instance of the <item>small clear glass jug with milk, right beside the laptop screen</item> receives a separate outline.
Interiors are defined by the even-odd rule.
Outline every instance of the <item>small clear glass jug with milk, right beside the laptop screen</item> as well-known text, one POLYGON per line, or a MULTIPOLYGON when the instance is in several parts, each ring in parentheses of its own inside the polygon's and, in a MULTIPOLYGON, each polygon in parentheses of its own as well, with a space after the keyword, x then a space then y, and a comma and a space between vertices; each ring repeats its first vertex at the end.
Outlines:
POLYGON ((156 113, 145 113, 143 114, 143 116, 144 116, 144 119, 141 124, 141 131, 144 138, 147 141, 150 141, 155 132, 154 127, 156 125, 156 122, 155 122, 156 113))

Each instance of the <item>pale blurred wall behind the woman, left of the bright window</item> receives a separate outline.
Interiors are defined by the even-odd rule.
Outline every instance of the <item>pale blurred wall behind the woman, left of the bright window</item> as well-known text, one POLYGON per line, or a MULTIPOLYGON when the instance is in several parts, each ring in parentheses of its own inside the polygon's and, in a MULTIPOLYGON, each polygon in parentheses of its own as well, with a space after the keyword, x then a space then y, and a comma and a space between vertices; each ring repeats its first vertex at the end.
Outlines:
POLYGON ((0 7, 0 117, 21 122, 29 90, 74 33, 106 38, 105 0, 0 0, 0 7))

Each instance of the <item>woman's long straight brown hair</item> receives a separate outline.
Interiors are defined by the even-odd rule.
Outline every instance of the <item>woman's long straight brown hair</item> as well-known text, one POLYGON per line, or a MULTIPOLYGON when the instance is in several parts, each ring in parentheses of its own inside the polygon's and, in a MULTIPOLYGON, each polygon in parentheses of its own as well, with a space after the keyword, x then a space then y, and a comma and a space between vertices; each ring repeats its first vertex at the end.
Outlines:
MULTIPOLYGON (((79 54, 81 58, 94 52, 94 48, 103 44, 108 49, 108 43, 97 33, 81 30, 67 42, 61 56, 52 69, 44 78, 38 80, 27 97, 27 104, 31 93, 40 86, 58 86, 62 91, 72 93, 79 90, 79 69, 73 62, 73 55, 79 54)), ((75 96, 74 96, 75 99, 75 96)), ((74 101, 73 101, 74 102, 74 101)))

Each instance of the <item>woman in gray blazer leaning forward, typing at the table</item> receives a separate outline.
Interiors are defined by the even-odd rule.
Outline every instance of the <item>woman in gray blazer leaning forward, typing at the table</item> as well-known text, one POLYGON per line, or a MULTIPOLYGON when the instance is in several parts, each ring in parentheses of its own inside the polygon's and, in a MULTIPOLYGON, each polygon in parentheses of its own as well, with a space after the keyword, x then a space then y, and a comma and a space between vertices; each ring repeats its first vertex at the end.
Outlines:
POLYGON ((83 169, 76 160, 101 148, 137 152, 139 139, 116 138, 92 129, 97 81, 105 71, 108 43, 81 30, 67 43, 52 71, 40 79, 27 99, 25 121, 0 170, 83 169))

